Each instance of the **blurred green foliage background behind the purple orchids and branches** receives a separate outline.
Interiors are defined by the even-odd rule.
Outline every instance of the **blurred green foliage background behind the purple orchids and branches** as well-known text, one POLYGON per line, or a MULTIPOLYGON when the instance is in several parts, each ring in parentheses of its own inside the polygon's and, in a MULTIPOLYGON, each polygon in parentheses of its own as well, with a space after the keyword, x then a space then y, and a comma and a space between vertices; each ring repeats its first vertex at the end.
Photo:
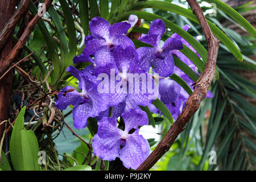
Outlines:
MULTIPOLYGON (((239 2, 243 3, 236 4, 232 1, 233 4, 230 4, 230 1, 226 1, 243 16, 250 17, 251 14, 255 17, 256 6, 253 1, 239 2)), ((256 42, 255 34, 252 35, 255 30, 252 31, 244 21, 237 23, 241 20, 240 16, 234 14, 234 11, 226 6, 222 6, 220 1, 199 1, 199 3, 205 17, 212 22, 212 30, 221 39, 217 59, 217 76, 210 88, 213 98, 205 98, 200 109, 197 110, 191 122, 187 123, 185 130, 179 135, 170 151, 151 170, 254 170, 256 165, 256 42), (211 2, 217 2, 216 9, 209 4, 211 2), (242 59, 243 62, 241 62, 242 59), (210 151, 216 151, 216 164, 209 164, 210 151)), ((37 13, 38 7, 40 7, 40 1, 31 1, 29 11, 15 29, 14 41, 19 38, 20 32, 37 13)), ((25 122, 34 122, 31 125, 28 124, 27 129, 32 129, 36 134, 39 149, 47 152, 47 165, 43 167, 44 169, 59 170, 72 167, 74 164, 87 164, 99 169, 100 160, 91 154, 86 144, 72 135, 63 123, 64 120, 77 135, 91 143, 91 133, 95 130, 93 127, 96 127, 93 119, 89 122, 92 123, 89 127, 76 130, 72 126, 72 108, 69 107, 63 113, 55 108, 56 116, 52 127, 42 130, 43 119, 40 114, 44 113, 47 119, 50 117, 52 111, 49 105, 53 101, 52 92, 66 85, 78 87, 76 78, 65 70, 69 65, 73 65, 73 57, 80 55, 84 49, 84 38, 89 35, 90 19, 102 16, 113 24, 120 20, 127 20, 130 14, 136 14, 141 18, 137 23, 139 27, 135 27, 128 35, 133 38, 136 47, 145 45, 136 38, 140 33, 148 31, 151 20, 161 18, 168 28, 163 39, 168 38, 174 32, 182 34, 181 36, 191 43, 202 56, 202 59, 192 61, 195 61, 199 71, 204 68, 207 42, 186 1, 53 1, 46 15, 32 32, 26 47, 18 55, 22 59, 35 51, 31 57, 20 64, 20 68, 28 73, 29 77, 16 70, 11 93, 12 96, 18 93, 22 98, 22 101, 16 101, 17 99, 12 97, 11 121, 16 118, 24 101, 28 104, 32 103, 31 109, 37 109, 39 117, 31 115, 25 122), (191 26, 188 34, 180 30, 185 24, 191 26), (199 39, 200 44, 193 42, 192 36, 199 39), (33 103, 38 98, 41 99, 33 103)), ((252 19, 250 23, 255 26, 255 19, 252 19)), ((195 55, 185 48, 183 52, 189 55, 189 58, 195 58, 195 55)), ((86 65, 88 63, 74 66, 81 69, 86 65)), ((54 103, 52 105, 54 106, 54 103)), ((159 115, 154 115, 154 117, 159 119, 159 115)), ((166 118, 155 120, 155 124, 156 129, 147 130, 147 136, 152 134, 152 137, 148 137, 152 150, 171 126, 166 118)), ((123 169, 118 160, 105 162, 103 168, 123 169)))

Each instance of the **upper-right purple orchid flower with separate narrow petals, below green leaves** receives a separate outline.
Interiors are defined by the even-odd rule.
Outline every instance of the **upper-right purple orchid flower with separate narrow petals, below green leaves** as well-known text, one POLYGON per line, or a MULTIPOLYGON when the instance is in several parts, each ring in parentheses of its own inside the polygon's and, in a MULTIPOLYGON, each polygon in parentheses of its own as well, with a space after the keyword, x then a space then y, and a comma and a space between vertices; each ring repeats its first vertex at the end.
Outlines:
POLYGON ((163 20, 155 19, 148 30, 148 35, 143 35, 142 42, 151 44, 151 47, 140 47, 137 49, 139 54, 138 65, 140 68, 148 71, 152 65, 154 71, 159 73, 159 76, 168 77, 174 73, 174 58, 171 55, 172 50, 182 49, 182 42, 179 39, 168 38, 164 42, 163 47, 160 46, 160 40, 166 32, 166 25, 163 20))

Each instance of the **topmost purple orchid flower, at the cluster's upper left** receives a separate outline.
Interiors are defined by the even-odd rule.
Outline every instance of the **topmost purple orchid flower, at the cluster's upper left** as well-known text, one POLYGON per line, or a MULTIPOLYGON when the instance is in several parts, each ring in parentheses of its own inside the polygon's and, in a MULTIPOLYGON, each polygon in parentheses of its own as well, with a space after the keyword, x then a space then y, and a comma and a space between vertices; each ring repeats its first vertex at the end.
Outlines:
MULTIPOLYGON (((90 32, 92 35, 86 36, 85 48, 80 56, 73 58, 74 63, 90 62, 96 66, 104 66, 108 62, 105 57, 112 58, 113 49, 122 44, 123 46, 132 46, 135 49, 133 42, 125 35, 130 28, 127 22, 110 23, 101 17, 94 17, 90 21, 90 32), (92 59, 94 57, 94 59, 92 59)), ((108 59, 111 63, 112 59, 108 59)))

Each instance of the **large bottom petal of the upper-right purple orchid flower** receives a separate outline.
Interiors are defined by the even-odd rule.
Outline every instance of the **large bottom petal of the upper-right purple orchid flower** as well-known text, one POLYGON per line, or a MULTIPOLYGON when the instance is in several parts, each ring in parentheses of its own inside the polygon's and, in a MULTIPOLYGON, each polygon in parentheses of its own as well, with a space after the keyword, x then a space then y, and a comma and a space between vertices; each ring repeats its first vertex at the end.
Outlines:
POLYGON ((174 73, 174 58, 169 51, 163 51, 158 57, 154 57, 152 65, 159 76, 168 77, 174 73))

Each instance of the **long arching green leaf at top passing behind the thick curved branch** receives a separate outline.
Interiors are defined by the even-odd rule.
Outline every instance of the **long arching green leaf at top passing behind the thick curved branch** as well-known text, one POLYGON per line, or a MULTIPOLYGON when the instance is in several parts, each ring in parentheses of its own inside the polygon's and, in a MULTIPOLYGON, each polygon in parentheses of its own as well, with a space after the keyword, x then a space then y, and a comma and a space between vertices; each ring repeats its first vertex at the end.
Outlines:
MULTIPOLYGON (((181 6, 174 5, 173 3, 164 2, 164 1, 146 1, 146 2, 135 3, 133 6, 130 7, 129 10, 139 10, 139 9, 150 8, 150 7, 153 8, 153 9, 160 9, 160 10, 165 10, 165 11, 171 11, 171 12, 174 12, 176 14, 183 15, 183 16, 187 17, 188 19, 191 19, 193 22, 199 23, 197 18, 196 18, 196 15, 194 15, 191 10, 188 10, 188 9, 185 9, 185 8, 183 8, 181 6)), ((163 19, 163 18, 161 18, 161 19, 163 19)), ((242 61, 243 58, 242 58, 241 52, 238 50, 236 45, 234 45, 233 42, 228 38, 228 36, 226 36, 212 22, 210 22, 209 20, 207 20, 207 22, 208 22, 209 27, 211 28, 213 34, 215 36, 217 36, 217 38, 220 39, 221 42, 224 43, 226 47, 228 47, 230 52, 232 52, 233 55, 238 60, 242 61)), ((180 32, 176 32, 176 33, 178 33, 180 36, 183 37, 183 35, 181 35, 180 32)), ((185 39, 185 40, 187 40, 187 39, 185 39)), ((189 44, 191 44, 191 42, 189 42, 188 40, 187 40, 187 42, 189 44)), ((191 46, 194 47, 197 52, 199 52, 199 50, 195 47, 195 45, 191 44, 191 46)), ((201 55, 200 52, 199 52, 199 54, 201 55)), ((201 56, 203 57, 204 60, 207 60, 207 57, 204 57, 204 55, 201 55, 201 56)))

